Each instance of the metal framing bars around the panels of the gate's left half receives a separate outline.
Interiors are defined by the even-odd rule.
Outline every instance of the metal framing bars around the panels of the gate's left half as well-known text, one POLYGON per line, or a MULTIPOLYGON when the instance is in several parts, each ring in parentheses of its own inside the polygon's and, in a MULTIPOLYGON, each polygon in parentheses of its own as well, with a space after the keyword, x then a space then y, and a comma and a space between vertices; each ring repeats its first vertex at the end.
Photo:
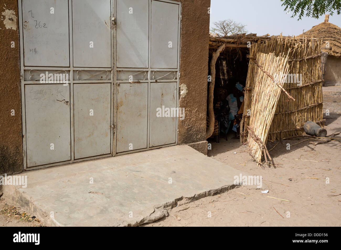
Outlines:
MULTIPOLYGON (((24 66, 24 39, 23 39, 23 9, 22 9, 22 1, 18 0, 18 14, 19 14, 19 43, 20 43, 20 82, 21 82, 21 113, 22 113, 22 124, 23 124, 23 163, 24 163, 24 171, 26 170, 34 170, 40 168, 47 168, 53 166, 59 166, 64 164, 71 164, 76 162, 100 159, 104 157, 109 157, 114 155, 114 147, 116 146, 114 143, 114 8, 116 10, 116 1, 110 0, 110 47, 111 49, 111 80, 103 80, 103 81, 74 81, 73 80, 73 70, 108 70, 109 68, 96 68, 96 67, 73 67, 73 0, 68 0, 68 12, 69 12, 69 60, 70 60, 70 67, 31 67, 31 66, 24 66), (44 164, 34 167, 27 167, 27 141, 26 141, 26 109, 25 109, 25 85, 27 84, 42 84, 39 81, 25 81, 24 80, 24 70, 26 69, 36 69, 36 70, 67 70, 70 71, 69 73, 69 84, 70 84, 70 136, 71 136, 71 160, 70 161, 63 161, 63 162, 56 162, 50 164, 44 164), (97 156, 85 157, 81 159, 74 159, 74 105, 73 105, 73 84, 74 83, 110 83, 111 87, 111 94, 110 94, 110 120, 111 120, 111 129, 110 129, 110 154, 102 154, 97 156)), ((115 46, 116 47, 116 46, 115 46)), ((116 97, 115 97, 116 98, 116 97)))

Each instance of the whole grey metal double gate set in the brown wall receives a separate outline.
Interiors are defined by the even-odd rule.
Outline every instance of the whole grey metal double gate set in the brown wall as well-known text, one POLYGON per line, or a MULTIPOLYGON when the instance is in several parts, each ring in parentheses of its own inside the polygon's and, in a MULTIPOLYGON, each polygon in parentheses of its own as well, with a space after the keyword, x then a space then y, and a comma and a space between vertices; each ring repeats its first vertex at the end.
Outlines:
POLYGON ((179 2, 18 3, 25 169, 177 144, 179 2))

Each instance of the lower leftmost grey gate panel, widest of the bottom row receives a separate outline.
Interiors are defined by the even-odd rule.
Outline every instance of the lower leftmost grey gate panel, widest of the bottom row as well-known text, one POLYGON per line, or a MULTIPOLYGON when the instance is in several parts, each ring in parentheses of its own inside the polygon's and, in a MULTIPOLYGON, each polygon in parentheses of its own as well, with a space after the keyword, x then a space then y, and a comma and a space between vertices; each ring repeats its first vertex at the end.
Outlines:
POLYGON ((70 85, 26 85, 25 104, 27 166, 71 160, 70 85))

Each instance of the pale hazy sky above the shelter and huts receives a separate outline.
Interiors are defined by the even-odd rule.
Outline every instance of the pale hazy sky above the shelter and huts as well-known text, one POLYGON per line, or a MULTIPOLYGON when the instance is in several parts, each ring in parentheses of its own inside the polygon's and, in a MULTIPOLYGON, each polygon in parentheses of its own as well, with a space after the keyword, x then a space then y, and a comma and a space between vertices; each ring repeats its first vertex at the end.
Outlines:
MULTIPOLYGON (((248 33, 257 35, 300 35, 313 26, 324 21, 324 15, 319 19, 302 17, 292 18, 284 12, 280 0, 211 0, 210 27, 212 23, 224 19, 232 19, 246 24, 248 33)), ((328 13, 326 13, 328 14, 328 13)), ((341 15, 329 16, 329 22, 341 27, 341 15)))

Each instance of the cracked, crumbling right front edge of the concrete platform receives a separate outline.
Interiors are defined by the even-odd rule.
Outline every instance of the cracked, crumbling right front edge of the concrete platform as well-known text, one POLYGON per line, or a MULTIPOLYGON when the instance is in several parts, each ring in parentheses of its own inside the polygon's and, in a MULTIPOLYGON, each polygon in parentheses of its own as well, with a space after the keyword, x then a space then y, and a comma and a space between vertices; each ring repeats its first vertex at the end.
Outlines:
MULTIPOLYGON (((225 185, 225 186, 222 186, 219 188, 210 189, 208 191, 204 191, 202 193, 195 194, 191 197, 181 196, 181 197, 179 197, 173 201, 169 201, 169 202, 166 202, 164 204, 155 205, 154 211, 149 216, 146 216, 139 221, 136 221, 133 223, 128 223, 126 226, 137 227, 137 226, 140 226, 142 224, 157 221, 159 219, 162 219, 163 217, 167 217, 169 215, 168 211, 172 210, 174 207, 182 206, 184 204, 188 204, 188 203, 191 203, 191 202, 196 201, 196 200, 200 200, 200 199, 208 197, 208 196, 226 193, 227 191, 234 189, 234 188, 237 188, 237 187, 240 187, 240 186, 241 185, 234 185, 234 184, 225 185)), ((120 226, 122 226, 122 224, 120 224, 120 226)))

